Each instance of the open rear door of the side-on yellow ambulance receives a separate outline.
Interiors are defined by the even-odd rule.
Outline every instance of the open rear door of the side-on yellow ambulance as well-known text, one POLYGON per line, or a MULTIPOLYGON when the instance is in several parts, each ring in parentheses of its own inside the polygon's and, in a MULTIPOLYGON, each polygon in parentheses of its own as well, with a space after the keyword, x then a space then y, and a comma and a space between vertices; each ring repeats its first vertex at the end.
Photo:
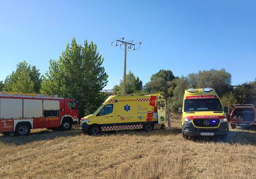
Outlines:
POLYGON ((158 124, 165 124, 166 108, 165 108, 165 97, 157 96, 157 119, 158 124))

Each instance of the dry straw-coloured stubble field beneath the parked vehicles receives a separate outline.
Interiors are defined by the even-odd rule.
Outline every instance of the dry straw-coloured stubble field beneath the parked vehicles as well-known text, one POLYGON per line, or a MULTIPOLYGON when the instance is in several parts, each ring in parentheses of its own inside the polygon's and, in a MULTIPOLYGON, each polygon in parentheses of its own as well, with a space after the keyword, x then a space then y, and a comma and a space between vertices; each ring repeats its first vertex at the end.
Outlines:
POLYGON ((226 140, 184 140, 173 129, 108 132, 34 130, 0 135, 0 178, 256 178, 256 131, 230 129, 226 140))

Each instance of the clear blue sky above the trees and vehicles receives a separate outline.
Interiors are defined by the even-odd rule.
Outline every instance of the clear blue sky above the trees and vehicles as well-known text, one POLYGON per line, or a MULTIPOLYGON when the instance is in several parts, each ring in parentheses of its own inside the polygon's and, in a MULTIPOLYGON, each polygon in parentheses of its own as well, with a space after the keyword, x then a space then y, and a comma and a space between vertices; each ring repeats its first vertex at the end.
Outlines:
POLYGON ((142 41, 127 53, 127 72, 147 83, 160 69, 186 76, 225 68, 236 85, 256 78, 255 0, 0 0, 0 80, 26 60, 42 74, 72 37, 93 41, 111 89, 124 52, 110 42, 142 41))

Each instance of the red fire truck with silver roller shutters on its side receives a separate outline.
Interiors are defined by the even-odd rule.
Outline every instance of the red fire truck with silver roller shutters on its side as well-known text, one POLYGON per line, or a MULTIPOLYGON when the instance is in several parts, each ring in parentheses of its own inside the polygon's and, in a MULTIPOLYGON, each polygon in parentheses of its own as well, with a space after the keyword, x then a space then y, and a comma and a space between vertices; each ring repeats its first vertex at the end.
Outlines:
POLYGON ((45 96, 0 92, 0 133, 28 135, 30 129, 56 128, 69 130, 78 122, 75 100, 45 96))

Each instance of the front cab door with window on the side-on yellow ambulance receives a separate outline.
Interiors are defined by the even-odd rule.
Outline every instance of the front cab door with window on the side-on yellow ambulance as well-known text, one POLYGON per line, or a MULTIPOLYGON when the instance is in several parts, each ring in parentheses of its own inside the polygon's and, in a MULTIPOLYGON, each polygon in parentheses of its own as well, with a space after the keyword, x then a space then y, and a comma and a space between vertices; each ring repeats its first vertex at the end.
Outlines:
POLYGON ((115 105, 106 104, 104 105, 98 114, 96 114, 99 119, 99 124, 103 127, 114 126, 115 125, 115 105))

